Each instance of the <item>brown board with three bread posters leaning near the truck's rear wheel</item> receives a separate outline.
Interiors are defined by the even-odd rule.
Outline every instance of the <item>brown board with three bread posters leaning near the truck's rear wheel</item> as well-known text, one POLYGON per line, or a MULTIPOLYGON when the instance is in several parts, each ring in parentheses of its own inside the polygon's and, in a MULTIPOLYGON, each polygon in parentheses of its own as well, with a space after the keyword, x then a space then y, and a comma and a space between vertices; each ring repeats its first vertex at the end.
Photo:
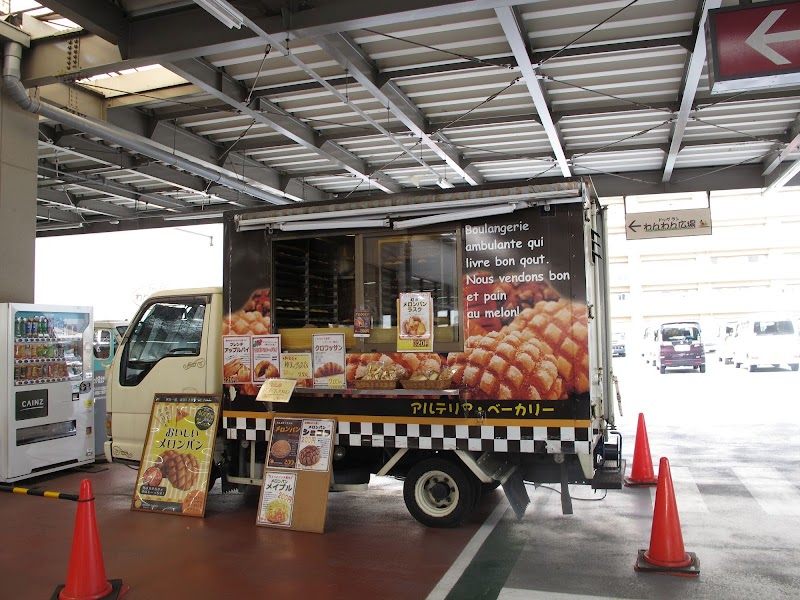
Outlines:
POLYGON ((256 525, 322 533, 336 421, 276 414, 256 525))

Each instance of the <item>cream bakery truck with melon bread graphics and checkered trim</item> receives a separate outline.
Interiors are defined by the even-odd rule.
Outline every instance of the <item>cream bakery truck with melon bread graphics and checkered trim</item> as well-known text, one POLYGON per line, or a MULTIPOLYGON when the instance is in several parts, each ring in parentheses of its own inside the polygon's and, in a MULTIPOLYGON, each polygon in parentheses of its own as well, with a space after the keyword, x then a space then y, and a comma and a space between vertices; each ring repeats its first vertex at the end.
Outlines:
POLYGON ((222 288, 155 294, 128 328, 106 455, 140 459, 154 394, 215 393, 223 491, 262 483, 279 413, 334 418, 332 488, 397 477, 425 525, 498 486, 521 517, 526 484, 560 484, 570 513, 570 484, 621 488, 625 470, 606 248, 588 179, 226 213, 222 288), (288 402, 258 399, 288 356, 310 372, 288 402))

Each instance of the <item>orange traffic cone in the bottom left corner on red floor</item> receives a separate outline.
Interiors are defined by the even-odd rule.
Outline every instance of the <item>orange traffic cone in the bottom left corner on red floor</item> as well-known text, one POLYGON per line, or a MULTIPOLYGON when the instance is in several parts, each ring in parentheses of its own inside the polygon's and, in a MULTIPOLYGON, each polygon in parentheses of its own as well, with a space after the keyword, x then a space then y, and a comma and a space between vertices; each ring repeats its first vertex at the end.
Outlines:
POLYGON ((51 600, 113 600, 121 598, 127 591, 128 586, 123 585, 121 579, 106 579, 94 513, 92 482, 84 479, 78 494, 67 583, 56 588, 51 600))

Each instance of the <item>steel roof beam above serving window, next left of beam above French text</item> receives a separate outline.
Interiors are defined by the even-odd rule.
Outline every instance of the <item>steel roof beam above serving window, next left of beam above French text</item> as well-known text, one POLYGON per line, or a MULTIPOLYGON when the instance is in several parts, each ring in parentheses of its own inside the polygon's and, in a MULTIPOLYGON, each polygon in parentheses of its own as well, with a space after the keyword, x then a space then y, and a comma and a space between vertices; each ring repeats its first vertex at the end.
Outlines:
POLYGON ((424 115, 408 96, 395 84, 389 81, 378 86, 377 68, 364 54, 355 41, 344 33, 326 35, 315 40, 317 44, 346 69, 364 89, 397 117, 422 144, 430 148, 436 156, 450 166, 459 177, 470 185, 483 183, 483 177, 474 169, 464 169, 461 155, 445 143, 440 144, 428 134, 430 125, 424 115))

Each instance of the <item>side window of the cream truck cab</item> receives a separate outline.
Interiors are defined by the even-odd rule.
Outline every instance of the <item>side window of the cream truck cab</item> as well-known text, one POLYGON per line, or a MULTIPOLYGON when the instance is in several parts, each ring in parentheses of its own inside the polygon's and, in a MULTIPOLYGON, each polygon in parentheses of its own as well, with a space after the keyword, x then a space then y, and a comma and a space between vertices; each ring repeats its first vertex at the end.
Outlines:
POLYGON ((198 356, 206 303, 155 302, 133 327, 120 362, 120 383, 137 385, 160 361, 169 356, 198 356))

